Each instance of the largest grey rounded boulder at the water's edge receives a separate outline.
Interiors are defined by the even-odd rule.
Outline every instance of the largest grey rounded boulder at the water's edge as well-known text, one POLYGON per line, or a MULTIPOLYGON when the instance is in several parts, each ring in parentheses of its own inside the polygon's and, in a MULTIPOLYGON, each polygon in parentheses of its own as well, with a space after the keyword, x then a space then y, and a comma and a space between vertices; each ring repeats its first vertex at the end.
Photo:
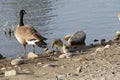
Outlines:
POLYGON ((84 31, 75 32, 69 39, 69 46, 85 45, 86 33, 84 31))

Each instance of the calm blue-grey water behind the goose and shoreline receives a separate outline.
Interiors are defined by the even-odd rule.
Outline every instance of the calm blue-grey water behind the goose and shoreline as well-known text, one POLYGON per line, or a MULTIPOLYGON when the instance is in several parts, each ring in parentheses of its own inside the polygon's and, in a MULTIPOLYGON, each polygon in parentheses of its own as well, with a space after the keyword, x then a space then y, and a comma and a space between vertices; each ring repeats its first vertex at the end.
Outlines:
MULTIPOLYGON (((0 1, 0 53, 6 57, 23 55, 18 41, 6 38, 3 29, 14 28, 19 22, 19 11, 25 9, 25 24, 34 26, 48 38, 48 46, 54 38, 61 38, 78 30, 87 34, 86 43, 94 39, 113 39, 120 30, 117 13, 120 0, 1 0, 0 1), (5 25, 5 23, 8 24, 5 25)), ((27 46, 27 52, 32 51, 27 46)), ((36 47, 37 53, 42 49, 36 47)))

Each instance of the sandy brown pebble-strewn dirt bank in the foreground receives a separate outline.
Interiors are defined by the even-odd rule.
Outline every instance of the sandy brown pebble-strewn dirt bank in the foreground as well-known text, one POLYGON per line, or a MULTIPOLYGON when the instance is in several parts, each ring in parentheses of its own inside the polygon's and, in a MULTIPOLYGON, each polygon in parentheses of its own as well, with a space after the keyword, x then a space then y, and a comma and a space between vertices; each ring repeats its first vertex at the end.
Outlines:
POLYGON ((88 48, 72 58, 41 56, 25 59, 25 64, 12 66, 9 59, 0 60, 0 80, 120 80, 120 45, 101 51, 88 48), (15 69, 15 76, 5 77, 2 68, 15 69))

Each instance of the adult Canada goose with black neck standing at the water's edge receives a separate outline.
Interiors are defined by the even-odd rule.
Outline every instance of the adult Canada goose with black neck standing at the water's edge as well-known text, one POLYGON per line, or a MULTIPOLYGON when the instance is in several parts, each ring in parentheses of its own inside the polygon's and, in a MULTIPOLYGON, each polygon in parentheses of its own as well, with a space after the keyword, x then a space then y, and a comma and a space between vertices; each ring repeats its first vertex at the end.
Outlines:
POLYGON ((46 47, 47 44, 44 40, 47 38, 41 36, 32 26, 24 25, 23 16, 26 14, 25 10, 20 10, 20 22, 15 29, 14 35, 16 39, 22 44, 26 53, 26 45, 33 46, 33 52, 35 52, 35 45, 39 47, 46 47))

